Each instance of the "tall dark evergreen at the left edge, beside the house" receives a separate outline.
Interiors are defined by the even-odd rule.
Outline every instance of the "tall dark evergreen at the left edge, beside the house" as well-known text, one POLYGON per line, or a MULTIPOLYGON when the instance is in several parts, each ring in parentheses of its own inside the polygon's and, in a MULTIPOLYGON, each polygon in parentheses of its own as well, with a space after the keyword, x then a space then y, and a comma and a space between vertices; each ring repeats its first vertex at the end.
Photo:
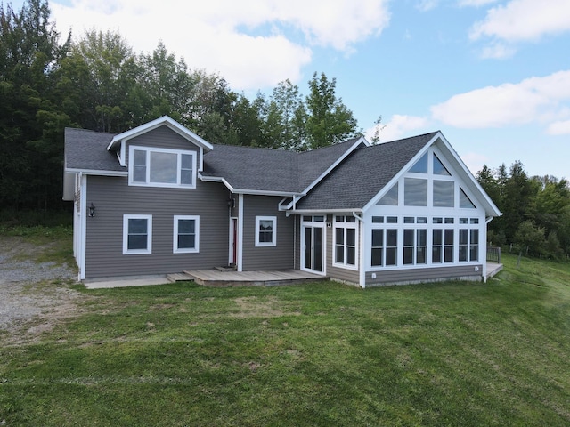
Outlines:
POLYGON ((57 70, 69 37, 50 21, 46 1, 20 12, 0 4, 0 205, 24 209, 61 205, 63 126, 57 70), (59 189, 58 189, 59 187, 59 189))

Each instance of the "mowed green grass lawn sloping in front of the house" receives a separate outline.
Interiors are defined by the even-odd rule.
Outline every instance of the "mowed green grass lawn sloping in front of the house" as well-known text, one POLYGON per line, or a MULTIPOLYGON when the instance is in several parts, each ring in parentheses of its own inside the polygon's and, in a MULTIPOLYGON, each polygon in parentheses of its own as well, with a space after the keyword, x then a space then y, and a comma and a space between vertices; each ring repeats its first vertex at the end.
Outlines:
POLYGON ((0 422, 567 426, 570 263, 504 262, 487 284, 77 286, 83 314, 0 349, 0 422))

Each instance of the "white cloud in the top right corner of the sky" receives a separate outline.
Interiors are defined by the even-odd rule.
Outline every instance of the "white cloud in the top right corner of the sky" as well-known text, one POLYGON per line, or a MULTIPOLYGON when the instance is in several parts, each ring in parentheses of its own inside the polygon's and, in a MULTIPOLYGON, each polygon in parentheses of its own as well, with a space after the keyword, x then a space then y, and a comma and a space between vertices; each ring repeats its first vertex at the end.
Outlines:
POLYGON ((520 42, 565 31, 570 31, 568 0, 511 0, 506 5, 490 9, 485 20, 474 24, 469 36, 473 40, 492 37, 520 42))

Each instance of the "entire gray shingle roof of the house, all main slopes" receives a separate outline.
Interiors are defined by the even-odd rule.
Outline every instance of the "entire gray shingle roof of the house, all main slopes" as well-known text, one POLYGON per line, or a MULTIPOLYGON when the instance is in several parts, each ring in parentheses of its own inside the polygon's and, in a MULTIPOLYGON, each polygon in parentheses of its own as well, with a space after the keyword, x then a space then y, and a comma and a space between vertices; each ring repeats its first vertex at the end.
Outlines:
MULTIPOLYGON (((430 141, 426 133, 366 147, 363 144, 297 203, 297 209, 360 209, 430 141)), ((65 129, 66 169, 126 172, 107 147, 114 133, 65 129)), ((234 189, 301 193, 358 139, 303 153, 215 145, 204 155, 205 177, 224 178, 234 189)))

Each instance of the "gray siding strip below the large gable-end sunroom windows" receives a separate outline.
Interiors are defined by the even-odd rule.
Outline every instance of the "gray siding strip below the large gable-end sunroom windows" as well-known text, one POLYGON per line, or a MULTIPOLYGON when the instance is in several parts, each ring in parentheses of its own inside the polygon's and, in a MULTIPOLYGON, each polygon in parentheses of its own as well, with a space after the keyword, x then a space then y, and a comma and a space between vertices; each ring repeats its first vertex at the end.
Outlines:
POLYGON ((366 286, 429 282, 451 278, 481 280, 483 279, 483 265, 469 264, 423 269, 366 271, 366 286), (376 273, 376 278, 372 278, 372 273, 376 273))

